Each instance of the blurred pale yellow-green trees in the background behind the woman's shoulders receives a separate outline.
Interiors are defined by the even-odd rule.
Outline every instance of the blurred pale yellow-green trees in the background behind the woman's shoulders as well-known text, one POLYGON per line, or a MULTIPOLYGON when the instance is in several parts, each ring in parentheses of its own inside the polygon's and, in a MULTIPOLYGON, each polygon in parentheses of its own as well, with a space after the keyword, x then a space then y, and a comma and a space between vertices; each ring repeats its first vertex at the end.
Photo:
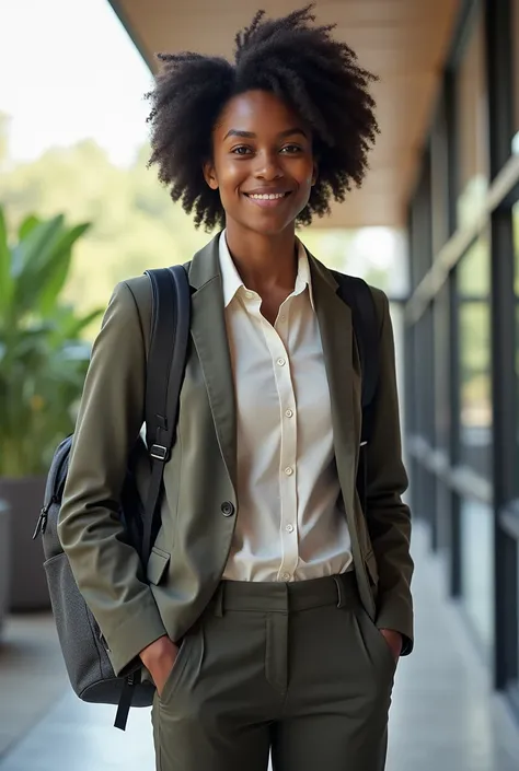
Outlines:
MULTIPOLYGON (((78 243, 65 299, 80 313, 105 306, 114 285, 147 268, 189 260, 210 237, 196 231, 189 217, 147 168, 143 145, 128 167, 114 165, 93 141, 48 150, 37 160, 9 163, 8 117, 0 114, 0 203, 14 227, 30 212, 70 221, 89 221, 92 227, 78 243)), ((309 248, 331 267, 347 267, 355 231, 310 229, 303 232, 309 248)), ((384 272, 371 267, 368 279, 383 285, 384 272)), ((95 335, 99 323, 88 329, 95 335)))

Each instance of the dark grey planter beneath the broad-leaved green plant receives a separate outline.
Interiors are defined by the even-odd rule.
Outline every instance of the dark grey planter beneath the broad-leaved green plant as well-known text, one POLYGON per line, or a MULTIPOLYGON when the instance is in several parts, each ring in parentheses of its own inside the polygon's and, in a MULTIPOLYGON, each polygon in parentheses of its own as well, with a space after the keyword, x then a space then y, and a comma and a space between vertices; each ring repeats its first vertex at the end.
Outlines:
POLYGON ((43 506, 45 482, 45 477, 0 478, 0 499, 11 510, 10 608, 14 611, 50 608, 42 539, 32 539, 43 506))

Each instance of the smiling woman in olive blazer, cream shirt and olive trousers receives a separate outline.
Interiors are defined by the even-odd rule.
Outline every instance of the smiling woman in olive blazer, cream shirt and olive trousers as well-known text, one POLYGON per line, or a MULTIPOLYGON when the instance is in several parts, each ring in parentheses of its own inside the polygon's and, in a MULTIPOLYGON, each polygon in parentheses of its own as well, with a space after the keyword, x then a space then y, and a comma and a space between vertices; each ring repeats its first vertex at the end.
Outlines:
MULTIPOLYGON (((258 13, 235 63, 162 56, 151 163, 224 231, 188 267, 192 346, 162 526, 143 575, 114 514, 142 424, 150 288, 120 283, 95 342, 60 536, 117 673, 157 686, 160 771, 379 771, 400 655, 412 649, 388 301, 355 490, 360 367, 337 283, 296 237, 360 184, 372 80, 310 9, 258 13)), ((374 354, 374 352, 373 352, 374 354)))

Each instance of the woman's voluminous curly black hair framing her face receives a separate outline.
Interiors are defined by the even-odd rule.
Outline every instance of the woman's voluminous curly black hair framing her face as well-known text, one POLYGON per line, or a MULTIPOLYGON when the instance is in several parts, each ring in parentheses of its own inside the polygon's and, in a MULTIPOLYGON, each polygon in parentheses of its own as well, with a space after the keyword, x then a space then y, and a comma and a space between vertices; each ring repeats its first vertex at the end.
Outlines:
POLYGON ((191 51, 159 54, 163 62, 152 105, 151 156, 159 179, 195 213, 195 226, 224 226, 218 190, 203 173, 212 155, 212 128, 227 102, 251 90, 269 91, 289 104, 313 132, 319 177, 298 224, 330 212, 330 199, 344 201, 360 186, 367 155, 379 132, 368 86, 377 78, 361 69, 356 54, 333 39, 334 24, 315 26, 313 4, 273 21, 258 11, 235 37, 234 63, 191 51))

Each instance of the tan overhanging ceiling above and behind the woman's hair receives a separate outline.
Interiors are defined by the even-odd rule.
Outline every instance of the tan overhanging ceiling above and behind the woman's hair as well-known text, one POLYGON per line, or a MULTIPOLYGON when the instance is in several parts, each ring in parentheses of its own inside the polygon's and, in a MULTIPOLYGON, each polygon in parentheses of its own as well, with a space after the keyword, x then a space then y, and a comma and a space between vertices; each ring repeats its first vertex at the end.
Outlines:
MULTIPOLYGON (((279 16, 304 0, 114 0, 111 3, 151 69, 155 52, 195 50, 231 57, 235 31, 258 8, 279 16)), ((372 86, 380 136, 360 189, 315 225, 359 227, 405 224, 424 138, 460 0, 321 0, 319 23, 379 75, 372 86)))

